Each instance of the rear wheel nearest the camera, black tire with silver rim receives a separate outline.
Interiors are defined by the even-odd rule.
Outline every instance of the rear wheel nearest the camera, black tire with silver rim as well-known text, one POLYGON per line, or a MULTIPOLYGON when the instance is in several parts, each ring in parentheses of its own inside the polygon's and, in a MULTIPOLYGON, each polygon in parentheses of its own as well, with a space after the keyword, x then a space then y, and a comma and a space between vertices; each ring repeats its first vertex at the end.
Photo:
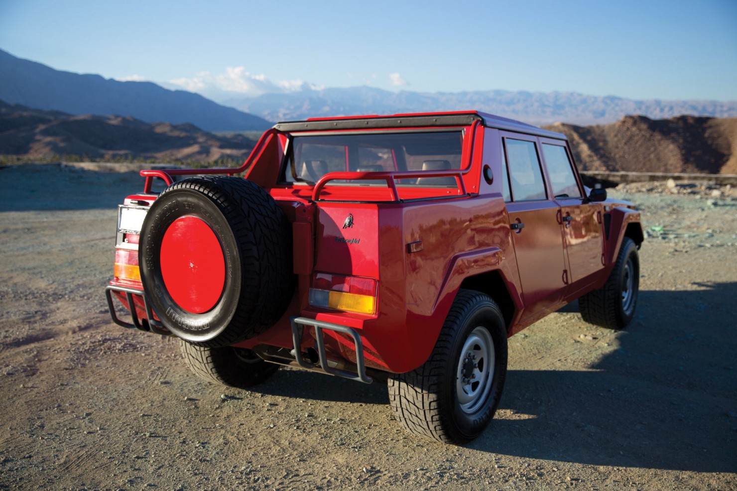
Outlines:
POLYGON ((456 445, 469 442, 497 411, 506 366, 507 332, 499 306, 483 293, 459 290, 430 358, 389 378, 394 416, 410 433, 456 445), (477 381, 464 380, 469 371, 477 381))

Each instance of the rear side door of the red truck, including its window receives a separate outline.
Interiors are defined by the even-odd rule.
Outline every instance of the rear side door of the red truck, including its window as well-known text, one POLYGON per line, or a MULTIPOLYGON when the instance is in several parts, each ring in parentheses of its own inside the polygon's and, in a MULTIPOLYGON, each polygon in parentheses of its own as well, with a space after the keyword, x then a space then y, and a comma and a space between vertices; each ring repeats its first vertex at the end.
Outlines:
POLYGON ((500 132, 504 194, 525 300, 523 317, 562 302, 567 285, 560 206, 549 195, 534 136, 500 132))

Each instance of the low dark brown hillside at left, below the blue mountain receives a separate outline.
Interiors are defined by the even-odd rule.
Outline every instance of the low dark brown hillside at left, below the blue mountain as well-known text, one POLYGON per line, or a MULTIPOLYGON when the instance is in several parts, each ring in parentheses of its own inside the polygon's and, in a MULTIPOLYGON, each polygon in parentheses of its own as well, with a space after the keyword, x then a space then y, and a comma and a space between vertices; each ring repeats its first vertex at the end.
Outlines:
POLYGON ((130 116, 71 116, 0 101, 0 155, 217 161, 244 160, 253 147, 245 136, 217 136, 189 124, 149 124, 130 116))

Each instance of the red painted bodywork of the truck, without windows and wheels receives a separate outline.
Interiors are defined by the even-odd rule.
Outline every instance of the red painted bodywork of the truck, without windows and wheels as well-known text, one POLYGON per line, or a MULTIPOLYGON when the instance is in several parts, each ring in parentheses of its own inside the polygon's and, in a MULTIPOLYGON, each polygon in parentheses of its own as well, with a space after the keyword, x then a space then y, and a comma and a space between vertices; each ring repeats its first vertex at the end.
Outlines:
MULTIPOLYGON (((227 173, 246 170, 246 178, 268 189, 293 223, 293 264, 298 287, 279 322, 256 338, 237 344, 240 347, 269 345, 291 349, 290 317, 303 316, 357 331, 367 366, 408 372, 427 360, 458 289, 468 279, 491 278, 484 276, 489 274, 502 279, 504 298, 509 299, 504 306, 505 317, 509 335, 513 335, 566 302, 603 285, 626 226, 639 223, 639 213, 629 203, 590 203, 575 165, 573 175, 583 198, 549 198, 553 191, 544 159, 540 165, 548 198, 506 202, 504 180, 509 170, 503 137, 532 142, 538 153, 542 142, 567 148, 565 136, 522 123, 459 112, 310 119, 305 122, 305 130, 300 130, 296 123, 285 123, 284 130, 279 129, 280 125, 265 133, 243 167, 227 173), (327 173, 311 184, 285 184, 279 177, 282 161, 289 152, 290 136, 328 131, 319 126, 315 127, 317 130, 309 129, 313 123, 335 122, 335 129, 329 131, 357 132, 355 122, 365 120, 369 125, 374 119, 386 119, 396 120, 397 126, 361 131, 406 132, 408 127, 399 122, 408 116, 422 116, 427 124, 425 116, 441 119, 449 115, 475 118, 460 127, 465 132, 463 165, 461 170, 426 172, 425 177, 455 178, 455 187, 397 184, 416 179, 425 171, 327 173), (386 184, 331 184, 338 179, 386 184), (608 229, 605 222, 609 223, 608 229), (311 306, 309 292, 316 273, 376 280, 376 313, 364 315, 311 306)), ((419 126, 410 130, 423 128, 427 129, 419 126)), ((453 128, 459 128, 457 122, 453 128)), ((147 179, 167 179, 168 171, 156 172, 142 174, 147 179)), ((148 181, 147 185, 146 190, 150 190, 148 181)), ((129 197, 126 203, 153 198, 144 192, 129 197)), ((181 276, 181 281, 196 281, 203 288, 222 290, 219 276, 212 280, 212 285, 192 278, 181 276)), ((483 288, 483 281, 475 285, 483 288)), ((495 296, 500 292, 489 288, 487 293, 495 296)), ((308 335, 303 336, 302 346, 311 347, 314 340, 310 335, 314 330, 304 332, 308 335)), ((334 331, 324 331, 324 335, 328 358, 355 361, 352 340, 334 331)))

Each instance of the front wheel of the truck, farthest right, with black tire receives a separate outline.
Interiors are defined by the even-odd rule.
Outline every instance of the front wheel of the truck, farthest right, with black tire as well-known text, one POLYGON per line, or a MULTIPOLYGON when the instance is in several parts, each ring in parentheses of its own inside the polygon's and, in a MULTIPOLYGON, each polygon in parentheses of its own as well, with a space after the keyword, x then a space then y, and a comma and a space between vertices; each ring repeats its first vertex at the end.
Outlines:
POLYGON ((607 282, 579 298, 581 317, 597 326, 624 329, 635 316, 639 288, 638 247, 632 239, 624 237, 607 282))

